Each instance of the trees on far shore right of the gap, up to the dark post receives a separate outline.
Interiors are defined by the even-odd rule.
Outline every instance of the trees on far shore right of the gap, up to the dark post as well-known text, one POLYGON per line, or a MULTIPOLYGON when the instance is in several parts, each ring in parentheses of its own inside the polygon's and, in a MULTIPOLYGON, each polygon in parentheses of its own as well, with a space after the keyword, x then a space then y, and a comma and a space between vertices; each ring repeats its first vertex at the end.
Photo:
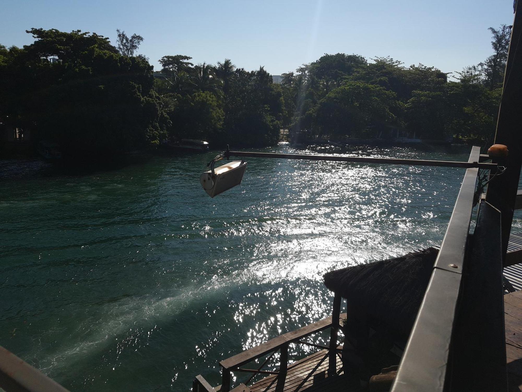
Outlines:
POLYGON ((423 139, 486 140, 493 136, 502 94, 509 28, 490 28, 494 53, 449 74, 390 57, 325 54, 283 74, 289 128, 307 137, 372 138, 399 134, 423 139))

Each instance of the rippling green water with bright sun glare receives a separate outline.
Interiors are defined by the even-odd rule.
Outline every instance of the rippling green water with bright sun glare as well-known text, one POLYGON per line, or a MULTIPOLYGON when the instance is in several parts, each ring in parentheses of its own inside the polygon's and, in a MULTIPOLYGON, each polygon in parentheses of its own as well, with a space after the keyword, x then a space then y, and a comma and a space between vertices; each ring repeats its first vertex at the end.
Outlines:
POLYGON ((219 385, 220 360, 328 316, 326 271, 440 244, 464 176, 253 158, 210 199, 198 179, 216 154, 82 175, 0 162, 0 344, 71 390, 219 385))

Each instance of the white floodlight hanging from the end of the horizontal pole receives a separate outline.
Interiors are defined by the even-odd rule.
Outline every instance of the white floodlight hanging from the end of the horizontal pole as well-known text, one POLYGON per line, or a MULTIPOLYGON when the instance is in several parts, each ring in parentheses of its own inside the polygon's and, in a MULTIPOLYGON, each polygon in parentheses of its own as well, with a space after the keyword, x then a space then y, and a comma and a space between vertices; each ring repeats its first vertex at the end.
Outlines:
POLYGON ((240 185, 243 175, 245 174, 246 162, 243 160, 233 160, 228 164, 215 168, 214 165, 220 159, 223 159, 222 155, 218 155, 212 159, 208 165, 210 170, 205 171, 199 177, 201 186, 203 186, 203 189, 205 189, 205 192, 207 192, 211 198, 227 189, 240 185))

